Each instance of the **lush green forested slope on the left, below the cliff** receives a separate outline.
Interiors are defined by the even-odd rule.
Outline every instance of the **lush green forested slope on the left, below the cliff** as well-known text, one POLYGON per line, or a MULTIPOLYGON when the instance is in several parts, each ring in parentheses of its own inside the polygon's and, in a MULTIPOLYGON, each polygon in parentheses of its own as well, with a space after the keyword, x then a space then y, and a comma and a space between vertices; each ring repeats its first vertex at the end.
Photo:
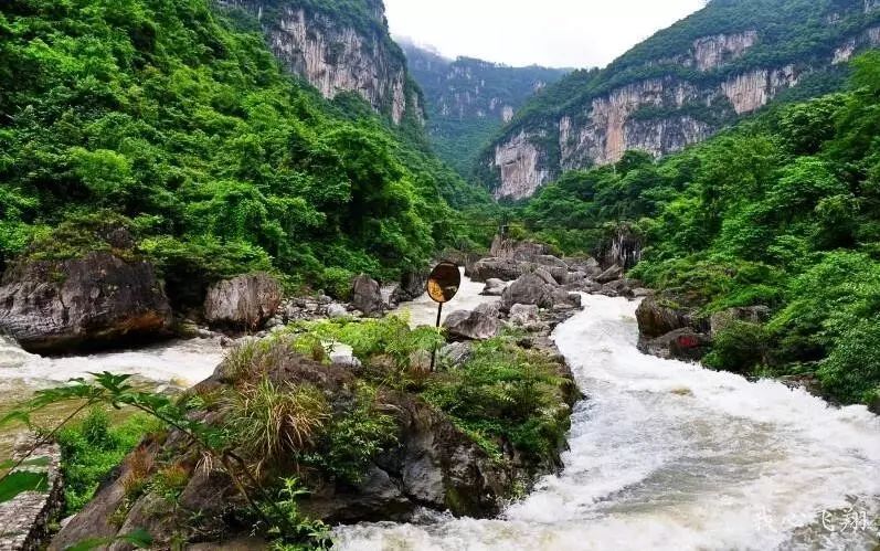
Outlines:
MULTIPOLYGON (((379 24, 377 2, 320 6, 379 24)), ((394 277, 456 239, 446 199, 467 187, 388 121, 400 88, 381 105, 341 89, 328 102, 285 72, 248 13, 210 0, 0 6, 0 267, 29 244, 52 259, 106 247, 93 231, 113 222, 171 295, 255 268, 330 290, 358 272, 394 277)))

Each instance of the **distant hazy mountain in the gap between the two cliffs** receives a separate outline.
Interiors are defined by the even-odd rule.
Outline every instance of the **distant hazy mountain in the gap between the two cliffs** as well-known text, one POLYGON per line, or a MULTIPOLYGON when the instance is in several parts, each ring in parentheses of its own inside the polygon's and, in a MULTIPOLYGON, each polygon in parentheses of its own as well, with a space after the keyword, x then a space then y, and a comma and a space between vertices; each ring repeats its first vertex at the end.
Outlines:
POLYGON ((529 96, 570 71, 510 67, 471 57, 448 60, 411 41, 400 43, 410 73, 425 94, 434 149, 463 176, 469 176, 479 150, 529 96))

